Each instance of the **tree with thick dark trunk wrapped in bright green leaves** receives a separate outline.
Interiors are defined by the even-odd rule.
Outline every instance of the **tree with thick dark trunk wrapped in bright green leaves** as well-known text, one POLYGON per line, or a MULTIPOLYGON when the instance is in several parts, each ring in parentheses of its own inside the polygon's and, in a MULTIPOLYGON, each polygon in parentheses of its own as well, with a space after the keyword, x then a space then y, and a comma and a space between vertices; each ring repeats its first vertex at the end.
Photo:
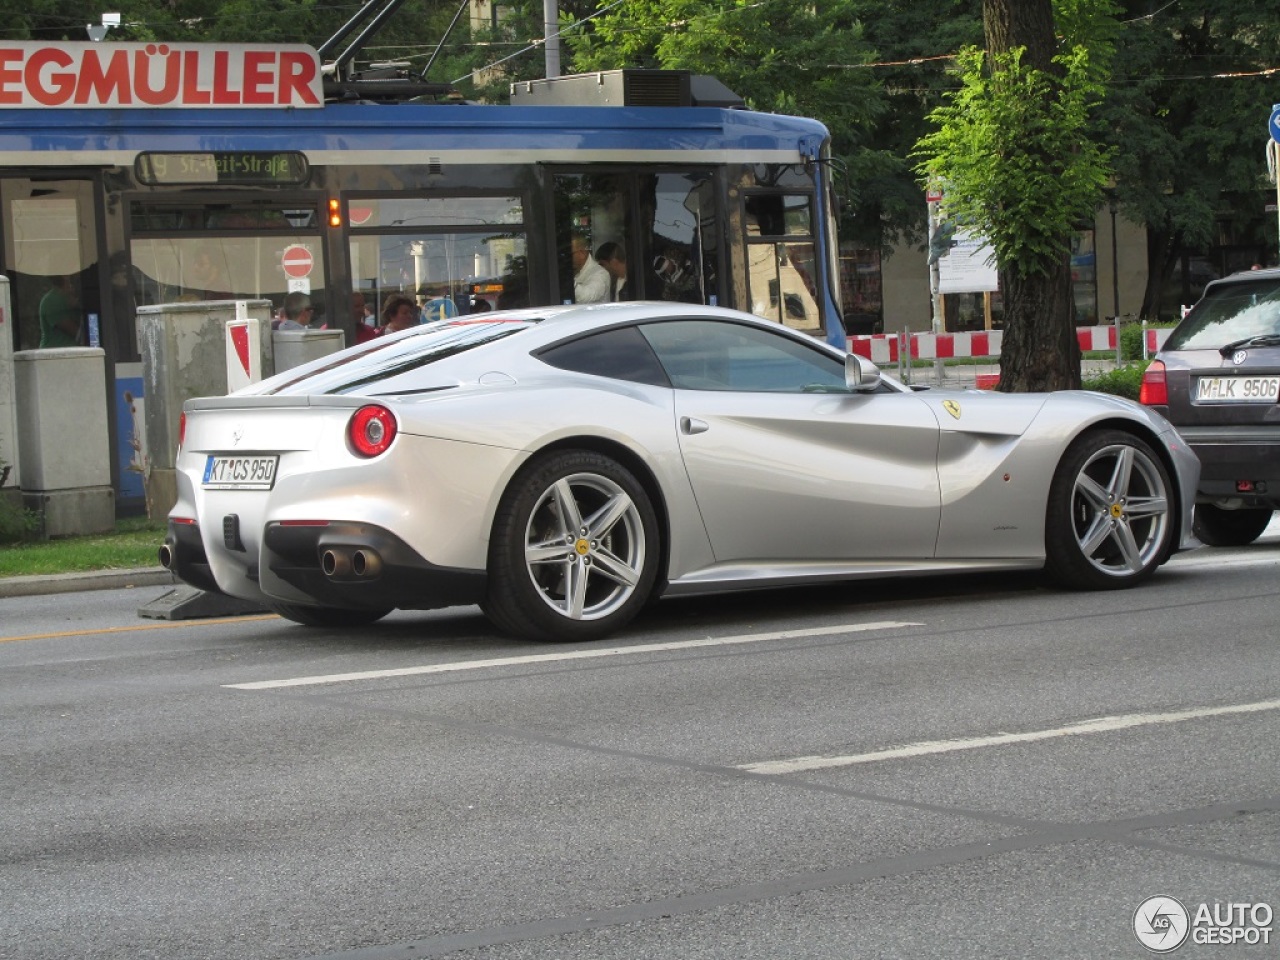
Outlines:
POLYGON ((1051 0, 984 0, 987 50, 960 55, 961 87, 919 143, 920 172, 945 188, 945 215, 986 236, 998 262, 1006 392, 1080 385, 1070 243, 1108 166, 1088 138, 1105 59, 1076 38, 1103 36, 1110 6, 1070 0, 1061 10, 1055 23, 1051 0))

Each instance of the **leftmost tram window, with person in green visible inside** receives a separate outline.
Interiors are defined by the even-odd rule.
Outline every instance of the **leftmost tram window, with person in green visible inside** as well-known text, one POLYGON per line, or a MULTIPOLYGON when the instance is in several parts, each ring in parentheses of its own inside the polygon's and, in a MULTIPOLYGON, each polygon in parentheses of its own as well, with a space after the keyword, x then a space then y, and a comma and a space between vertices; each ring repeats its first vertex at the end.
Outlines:
POLYGON ((101 346, 95 192, 90 179, 0 178, 14 349, 101 346))

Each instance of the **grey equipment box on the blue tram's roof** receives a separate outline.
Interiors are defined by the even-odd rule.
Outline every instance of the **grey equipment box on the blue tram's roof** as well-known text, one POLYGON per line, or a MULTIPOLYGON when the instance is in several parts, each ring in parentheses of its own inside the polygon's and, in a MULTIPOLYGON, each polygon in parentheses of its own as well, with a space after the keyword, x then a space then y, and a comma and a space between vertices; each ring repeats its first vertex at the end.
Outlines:
POLYGON ((604 70, 511 84, 516 106, 721 106, 742 99, 714 77, 689 70, 604 70))

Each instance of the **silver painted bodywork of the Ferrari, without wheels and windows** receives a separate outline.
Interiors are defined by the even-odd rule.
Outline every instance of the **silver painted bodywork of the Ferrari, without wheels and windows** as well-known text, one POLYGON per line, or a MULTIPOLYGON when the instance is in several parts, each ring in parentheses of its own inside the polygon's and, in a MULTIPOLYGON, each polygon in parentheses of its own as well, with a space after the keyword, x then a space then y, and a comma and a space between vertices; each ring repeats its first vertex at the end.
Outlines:
MULTIPOLYGON (((888 379, 874 393, 677 390, 561 370, 536 356, 581 333, 666 316, 778 329, 676 303, 550 307, 515 315, 540 320, 517 323, 515 335, 402 371, 397 364, 424 328, 374 340, 230 397, 188 401, 170 516, 198 518, 225 593, 316 603, 259 562, 268 524, 372 524, 431 564, 483 573, 520 467, 548 447, 593 445, 626 452, 648 471, 667 550, 659 589, 687 594, 1037 568, 1053 472, 1070 442, 1097 424, 1148 436, 1166 452, 1178 489, 1196 486, 1197 461, 1158 413, 1102 394, 913 392, 888 379), (344 371, 361 364, 397 372, 352 393, 308 392, 344 389, 344 371), (364 458, 348 447, 347 422, 370 402, 394 412, 398 434, 387 453, 364 458), (278 454, 271 489, 206 489, 207 457, 225 453, 278 454), (224 543, 229 516, 242 550, 224 543)), ((1196 543, 1190 506, 1189 497, 1178 504, 1183 548, 1196 543)))

